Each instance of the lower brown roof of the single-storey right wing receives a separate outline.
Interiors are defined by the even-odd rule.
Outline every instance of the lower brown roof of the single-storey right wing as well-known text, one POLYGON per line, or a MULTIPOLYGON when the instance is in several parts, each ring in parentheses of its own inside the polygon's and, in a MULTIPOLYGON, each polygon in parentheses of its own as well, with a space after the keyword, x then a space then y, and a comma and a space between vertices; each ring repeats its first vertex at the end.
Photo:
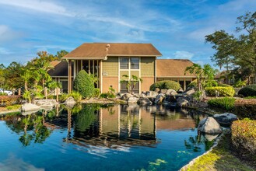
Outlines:
POLYGON ((156 60, 156 77, 187 77, 195 78, 195 75, 186 73, 185 69, 193 65, 188 59, 157 59, 156 60))

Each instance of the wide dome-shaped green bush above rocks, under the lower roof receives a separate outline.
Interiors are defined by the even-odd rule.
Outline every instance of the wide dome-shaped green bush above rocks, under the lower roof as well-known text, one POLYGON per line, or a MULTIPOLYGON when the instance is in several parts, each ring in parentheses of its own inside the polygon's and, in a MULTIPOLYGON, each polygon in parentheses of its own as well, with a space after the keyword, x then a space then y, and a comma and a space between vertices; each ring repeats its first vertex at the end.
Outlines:
POLYGON ((155 91, 155 89, 174 89, 175 91, 179 90, 181 88, 181 85, 178 82, 174 81, 160 81, 155 82, 153 85, 150 86, 151 91, 155 91))

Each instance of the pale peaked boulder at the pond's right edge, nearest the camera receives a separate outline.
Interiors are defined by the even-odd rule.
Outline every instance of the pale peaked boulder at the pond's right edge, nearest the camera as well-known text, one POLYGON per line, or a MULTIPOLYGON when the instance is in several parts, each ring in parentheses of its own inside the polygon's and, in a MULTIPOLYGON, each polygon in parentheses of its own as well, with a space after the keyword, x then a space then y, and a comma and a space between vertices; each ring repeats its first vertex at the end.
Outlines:
POLYGON ((223 130, 213 117, 205 117, 198 124, 198 131, 206 134, 219 134, 223 130))

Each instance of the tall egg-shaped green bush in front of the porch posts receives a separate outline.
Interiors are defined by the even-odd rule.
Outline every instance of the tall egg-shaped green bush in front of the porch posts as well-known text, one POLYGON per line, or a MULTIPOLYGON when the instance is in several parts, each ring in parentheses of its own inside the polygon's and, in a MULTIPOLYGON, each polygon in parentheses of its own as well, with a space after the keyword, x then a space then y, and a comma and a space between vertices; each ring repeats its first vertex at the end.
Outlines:
POLYGON ((93 79, 85 70, 80 71, 78 75, 76 75, 74 90, 79 92, 83 98, 92 97, 94 95, 93 79))

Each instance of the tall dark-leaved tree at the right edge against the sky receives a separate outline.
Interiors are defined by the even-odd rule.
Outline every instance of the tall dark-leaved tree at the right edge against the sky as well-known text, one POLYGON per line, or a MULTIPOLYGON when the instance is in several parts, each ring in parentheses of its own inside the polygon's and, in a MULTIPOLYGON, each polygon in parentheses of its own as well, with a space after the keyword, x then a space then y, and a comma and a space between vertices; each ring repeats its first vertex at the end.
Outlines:
POLYGON ((239 16, 237 24, 237 32, 241 33, 238 37, 226 33, 225 30, 205 36, 206 42, 213 44, 212 48, 216 50, 212 61, 220 68, 226 67, 226 78, 232 65, 236 66, 233 72, 236 80, 248 79, 253 73, 256 78, 256 12, 239 16))

